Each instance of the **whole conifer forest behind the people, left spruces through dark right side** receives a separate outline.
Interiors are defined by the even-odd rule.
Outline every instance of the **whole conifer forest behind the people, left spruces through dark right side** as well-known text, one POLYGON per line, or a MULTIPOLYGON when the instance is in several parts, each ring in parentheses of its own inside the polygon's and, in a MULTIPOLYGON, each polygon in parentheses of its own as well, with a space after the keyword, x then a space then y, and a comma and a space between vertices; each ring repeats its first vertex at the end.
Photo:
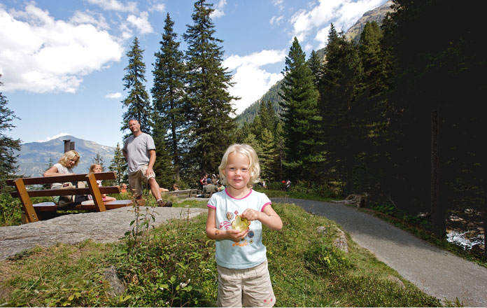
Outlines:
MULTIPOLYGON (((295 38, 284 79, 255 104, 251 123, 237 125, 213 8, 198 0, 184 52, 167 14, 152 101, 134 38, 122 130, 136 118, 153 133, 162 186, 195 186, 202 172, 216 173, 227 146, 248 143, 269 182, 290 179, 342 197, 367 193, 370 202, 428 214, 440 236, 449 210, 470 209, 483 215, 485 230, 484 10, 472 6, 395 0, 383 25, 367 23, 358 42, 331 25, 324 55, 313 51, 308 59, 295 38)), ((8 109, 1 112, 11 119, 8 109)), ((2 156, 6 162, 13 161, 2 156)))

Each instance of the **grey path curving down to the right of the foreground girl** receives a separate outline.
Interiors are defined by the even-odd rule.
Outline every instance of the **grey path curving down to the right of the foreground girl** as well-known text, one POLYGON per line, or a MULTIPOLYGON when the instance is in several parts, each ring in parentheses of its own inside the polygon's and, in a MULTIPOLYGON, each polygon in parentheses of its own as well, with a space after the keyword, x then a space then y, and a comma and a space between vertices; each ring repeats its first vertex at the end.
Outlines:
POLYGON ((405 279, 439 300, 487 307, 487 269, 432 246, 381 219, 343 204, 271 198, 337 222, 355 243, 395 269, 405 279))

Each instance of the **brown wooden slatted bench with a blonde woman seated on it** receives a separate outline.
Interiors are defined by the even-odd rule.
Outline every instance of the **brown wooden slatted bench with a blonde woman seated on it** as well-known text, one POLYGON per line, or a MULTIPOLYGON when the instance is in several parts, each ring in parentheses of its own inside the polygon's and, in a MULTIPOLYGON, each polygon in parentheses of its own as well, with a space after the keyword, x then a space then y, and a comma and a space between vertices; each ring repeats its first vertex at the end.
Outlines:
MULTIPOLYGON (((12 197, 19 197, 22 202, 22 223, 33 223, 44 220, 59 211, 106 211, 107 209, 117 209, 128 207, 133 204, 132 200, 114 200, 104 202, 101 194, 120 193, 118 186, 99 187, 97 180, 114 180, 115 172, 99 172, 95 174, 69 174, 64 176, 48 176, 36 178, 10 179, 6 183, 14 186, 15 192, 10 193, 12 197), (27 190, 29 185, 42 185, 51 183, 66 183, 86 181, 87 188, 66 188, 66 189, 43 189, 27 190), (93 200, 82 202, 81 204, 66 205, 59 207, 54 202, 42 202, 32 204, 31 197, 46 196, 66 196, 66 195, 92 195, 93 200)), ((143 201, 139 204, 143 204, 143 201)))

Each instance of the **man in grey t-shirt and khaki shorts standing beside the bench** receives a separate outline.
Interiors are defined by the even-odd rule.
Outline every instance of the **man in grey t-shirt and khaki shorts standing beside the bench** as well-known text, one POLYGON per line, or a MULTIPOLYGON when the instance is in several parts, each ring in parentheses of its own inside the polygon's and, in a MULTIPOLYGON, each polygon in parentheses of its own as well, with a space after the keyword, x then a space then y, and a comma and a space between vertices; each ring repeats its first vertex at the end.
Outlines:
POLYGON ((137 120, 129 120, 129 130, 132 136, 127 138, 122 152, 129 163, 129 186, 135 189, 136 198, 142 199, 142 181, 150 187, 159 207, 172 207, 172 202, 161 199, 159 184, 155 181, 155 145, 150 135, 141 131, 137 120))

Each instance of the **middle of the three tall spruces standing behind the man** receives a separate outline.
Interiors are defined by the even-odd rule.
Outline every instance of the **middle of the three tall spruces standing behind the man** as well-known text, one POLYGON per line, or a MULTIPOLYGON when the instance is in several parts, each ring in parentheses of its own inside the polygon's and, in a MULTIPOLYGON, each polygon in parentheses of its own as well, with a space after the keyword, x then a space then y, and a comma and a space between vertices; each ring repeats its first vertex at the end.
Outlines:
MULTIPOLYGON (((151 90, 153 105, 157 113, 155 116, 154 142, 158 149, 156 169, 162 174, 169 174, 174 170, 176 181, 180 179, 180 159, 183 139, 183 129, 187 122, 185 117, 185 66, 183 52, 179 50, 180 43, 176 41, 177 34, 173 30, 174 22, 167 13, 164 34, 160 41, 160 50, 155 52, 154 85, 151 90), (169 155, 160 155, 163 147, 169 146, 169 155), (161 160, 164 161, 162 162, 161 160), (173 166, 171 166, 171 161, 173 166), (162 168, 162 166, 169 169, 162 168)), ((158 182, 159 183, 159 182, 158 182)))

